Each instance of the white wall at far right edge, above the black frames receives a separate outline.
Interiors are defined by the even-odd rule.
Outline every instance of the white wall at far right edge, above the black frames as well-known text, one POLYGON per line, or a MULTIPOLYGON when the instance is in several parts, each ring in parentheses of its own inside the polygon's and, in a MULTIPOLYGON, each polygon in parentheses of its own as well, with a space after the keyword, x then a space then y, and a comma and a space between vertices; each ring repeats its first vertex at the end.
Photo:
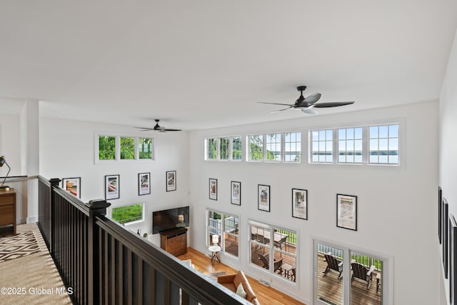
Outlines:
MULTIPOLYGON (((443 197, 449 204, 449 214, 457 216, 457 35, 454 39, 451 56, 448 61, 446 78, 443 81, 439 106, 439 185, 443 189, 443 197)), ((436 215, 436 211, 435 211, 436 215)), ((441 247, 438 249, 441 251, 441 247)), ((441 260, 437 264, 443 276, 441 260)), ((441 304, 448 304, 448 280, 440 279, 441 304)))

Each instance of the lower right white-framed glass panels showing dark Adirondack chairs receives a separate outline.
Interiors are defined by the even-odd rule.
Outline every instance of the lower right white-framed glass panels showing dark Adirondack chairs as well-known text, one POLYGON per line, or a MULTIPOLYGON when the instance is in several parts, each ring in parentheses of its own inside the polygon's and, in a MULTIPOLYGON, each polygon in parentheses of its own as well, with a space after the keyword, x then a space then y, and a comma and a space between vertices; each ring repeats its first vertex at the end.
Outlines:
POLYGON ((314 304, 393 304, 393 257, 313 239, 314 304))

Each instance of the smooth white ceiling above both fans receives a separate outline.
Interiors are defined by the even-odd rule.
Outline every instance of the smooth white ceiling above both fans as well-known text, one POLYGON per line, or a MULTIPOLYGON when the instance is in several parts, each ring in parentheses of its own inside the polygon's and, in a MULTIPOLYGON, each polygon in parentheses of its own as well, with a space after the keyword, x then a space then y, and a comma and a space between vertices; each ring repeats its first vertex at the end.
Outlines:
POLYGON ((438 99, 454 0, 0 0, 0 103, 41 115, 204 129, 438 99))

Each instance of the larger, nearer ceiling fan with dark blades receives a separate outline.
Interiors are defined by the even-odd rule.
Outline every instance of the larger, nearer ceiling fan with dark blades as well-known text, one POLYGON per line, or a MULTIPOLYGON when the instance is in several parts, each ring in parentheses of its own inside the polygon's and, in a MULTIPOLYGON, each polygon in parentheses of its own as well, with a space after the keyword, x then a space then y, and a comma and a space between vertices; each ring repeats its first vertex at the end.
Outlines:
POLYGON ((285 108, 285 109, 279 109, 276 111, 272 111, 271 114, 279 112, 279 111, 285 111, 285 110, 292 109, 292 108, 301 110, 305 114, 317 114, 317 111, 314 110, 313 108, 329 108, 329 107, 338 107, 338 106, 354 104, 354 101, 333 101, 333 102, 329 102, 329 103, 315 104, 316 101, 321 99, 322 94, 313 93, 309 96, 306 96, 306 98, 305 98, 303 96, 303 91, 306 90, 306 86, 298 86, 297 90, 300 91, 300 96, 298 96, 298 99, 295 101, 295 104, 266 103, 266 102, 262 102, 262 101, 259 101, 259 103, 288 106, 288 108, 285 108))

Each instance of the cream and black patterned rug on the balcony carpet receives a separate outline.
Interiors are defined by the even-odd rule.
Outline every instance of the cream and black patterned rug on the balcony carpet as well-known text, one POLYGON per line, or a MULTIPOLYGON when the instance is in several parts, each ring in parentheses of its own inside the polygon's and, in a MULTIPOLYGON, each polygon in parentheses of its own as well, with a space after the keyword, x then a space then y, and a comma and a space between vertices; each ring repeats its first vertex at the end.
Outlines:
POLYGON ((0 238, 0 263, 40 251, 33 231, 0 238))

